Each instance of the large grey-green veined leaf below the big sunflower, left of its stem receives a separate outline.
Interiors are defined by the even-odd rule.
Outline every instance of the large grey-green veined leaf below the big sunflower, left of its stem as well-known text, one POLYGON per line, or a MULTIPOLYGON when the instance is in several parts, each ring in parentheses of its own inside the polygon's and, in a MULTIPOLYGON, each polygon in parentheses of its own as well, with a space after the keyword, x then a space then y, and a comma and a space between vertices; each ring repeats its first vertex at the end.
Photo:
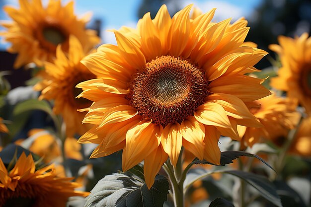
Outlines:
POLYGON ((156 176, 148 190, 132 173, 114 173, 98 181, 84 207, 163 207, 168 190, 168 181, 162 175, 156 176))

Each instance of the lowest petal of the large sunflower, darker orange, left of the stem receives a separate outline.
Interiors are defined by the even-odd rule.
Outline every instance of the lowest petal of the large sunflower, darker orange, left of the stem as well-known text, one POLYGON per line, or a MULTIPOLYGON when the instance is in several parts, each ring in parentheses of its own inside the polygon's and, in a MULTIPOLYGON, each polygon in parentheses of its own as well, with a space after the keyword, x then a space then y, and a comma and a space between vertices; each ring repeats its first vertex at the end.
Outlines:
POLYGON ((159 145, 145 158, 144 174, 148 189, 150 189, 155 183, 156 174, 160 170, 163 163, 167 160, 167 157, 168 156, 163 150, 162 145, 159 145))

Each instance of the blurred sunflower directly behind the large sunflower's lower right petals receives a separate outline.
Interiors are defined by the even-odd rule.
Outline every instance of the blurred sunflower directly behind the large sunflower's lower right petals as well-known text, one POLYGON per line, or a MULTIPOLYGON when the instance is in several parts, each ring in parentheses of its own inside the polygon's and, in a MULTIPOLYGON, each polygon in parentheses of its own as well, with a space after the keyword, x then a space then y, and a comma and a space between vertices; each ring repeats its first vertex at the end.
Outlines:
POLYGON ((297 102, 275 94, 264 97, 252 103, 248 103, 250 112, 259 119, 264 126, 252 128, 239 126, 241 144, 252 146, 259 142, 260 138, 278 142, 287 137, 289 131, 294 129, 299 122, 300 113, 296 111, 297 102))

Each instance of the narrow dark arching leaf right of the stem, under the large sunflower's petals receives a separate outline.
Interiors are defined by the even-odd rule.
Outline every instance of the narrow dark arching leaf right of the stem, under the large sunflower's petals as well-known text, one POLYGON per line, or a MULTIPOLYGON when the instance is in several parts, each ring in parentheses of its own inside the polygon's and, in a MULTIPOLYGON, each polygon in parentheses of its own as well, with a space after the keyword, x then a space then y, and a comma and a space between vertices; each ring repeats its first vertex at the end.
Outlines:
MULTIPOLYGON (((251 153, 248 153, 248 152, 243 152, 243 151, 224 151, 224 152, 221 152, 220 165, 225 166, 227 164, 233 163, 234 159, 239 158, 241 156, 255 157, 255 158, 259 159, 261 162, 265 163, 272 170, 274 170, 266 161, 264 161, 258 155, 251 154, 251 153)), ((199 159, 194 160, 191 164, 210 164, 210 165, 220 166, 219 164, 214 164, 214 163, 211 163, 211 162, 208 162, 208 161, 205 161, 205 160, 201 161, 199 159)))

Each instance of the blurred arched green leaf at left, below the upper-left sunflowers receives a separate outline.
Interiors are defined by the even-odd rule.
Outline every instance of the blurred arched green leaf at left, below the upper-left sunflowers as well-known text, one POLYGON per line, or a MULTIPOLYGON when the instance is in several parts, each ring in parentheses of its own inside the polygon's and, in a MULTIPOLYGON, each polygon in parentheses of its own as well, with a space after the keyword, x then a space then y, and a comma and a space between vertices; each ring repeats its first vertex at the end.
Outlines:
POLYGON ((31 110, 45 111, 49 115, 54 116, 49 103, 47 101, 40 101, 38 99, 29 99, 16 104, 13 110, 13 115, 18 116, 24 112, 31 110))

